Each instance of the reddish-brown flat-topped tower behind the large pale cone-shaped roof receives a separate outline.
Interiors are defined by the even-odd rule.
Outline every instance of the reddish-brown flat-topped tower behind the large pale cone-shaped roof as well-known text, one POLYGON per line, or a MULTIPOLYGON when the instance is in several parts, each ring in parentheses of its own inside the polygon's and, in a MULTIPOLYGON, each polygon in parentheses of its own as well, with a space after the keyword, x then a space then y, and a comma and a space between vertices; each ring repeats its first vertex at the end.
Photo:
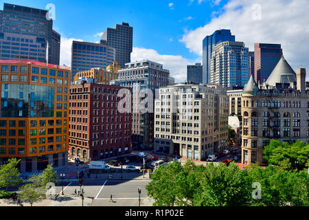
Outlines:
POLYGON ((254 80, 262 84, 277 65, 282 56, 280 44, 254 44, 254 80))

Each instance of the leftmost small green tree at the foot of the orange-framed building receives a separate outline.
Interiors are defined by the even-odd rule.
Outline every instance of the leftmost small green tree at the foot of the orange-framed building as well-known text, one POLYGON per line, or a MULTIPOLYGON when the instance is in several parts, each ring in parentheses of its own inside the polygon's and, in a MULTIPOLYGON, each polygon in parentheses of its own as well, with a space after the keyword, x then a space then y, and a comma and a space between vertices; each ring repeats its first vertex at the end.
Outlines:
POLYGON ((16 166, 21 160, 16 158, 8 159, 8 164, 0 166, 0 188, 5 187, 8 191, 9 186, 18 186, 23 183, 23 179, 19 177, 19 169, 16 166))

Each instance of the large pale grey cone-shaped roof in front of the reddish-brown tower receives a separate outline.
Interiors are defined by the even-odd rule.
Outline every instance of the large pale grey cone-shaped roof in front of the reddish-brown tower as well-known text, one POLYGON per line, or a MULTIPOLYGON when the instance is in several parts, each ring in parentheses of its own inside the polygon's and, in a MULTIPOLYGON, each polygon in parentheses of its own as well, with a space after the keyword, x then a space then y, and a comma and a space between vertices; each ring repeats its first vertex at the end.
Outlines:
POLYGON ((276 83, 293 82, 296 82, 296 74, 288 62, 286 62, 284 56, 282 56, 265 83, 275 86, 276 83))

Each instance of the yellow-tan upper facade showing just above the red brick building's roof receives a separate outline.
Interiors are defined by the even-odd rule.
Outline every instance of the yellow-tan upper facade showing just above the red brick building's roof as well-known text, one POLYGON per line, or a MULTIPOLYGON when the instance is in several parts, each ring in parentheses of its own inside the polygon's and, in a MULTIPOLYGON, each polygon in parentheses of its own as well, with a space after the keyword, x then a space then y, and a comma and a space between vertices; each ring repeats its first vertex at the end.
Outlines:
POLYGON ((78 72, 74 76, 74 82, 78 81, 78 78, 93 78, 96 79, 96 83, 104 83, 109 85, 111 80, 115 80, 118 78, 118 70, 120 67, 117 62, 113 62, 113 65, 108 65, 106 69, 103 68, 91 68, 87 71, 78 72))

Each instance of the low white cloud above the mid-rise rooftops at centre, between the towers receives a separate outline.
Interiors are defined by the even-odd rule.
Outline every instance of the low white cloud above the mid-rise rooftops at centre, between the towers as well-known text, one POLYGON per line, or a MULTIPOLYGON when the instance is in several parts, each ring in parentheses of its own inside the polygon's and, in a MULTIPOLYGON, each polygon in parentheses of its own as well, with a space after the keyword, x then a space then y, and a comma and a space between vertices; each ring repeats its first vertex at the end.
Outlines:
POLYGON ((164 69, 170 70, 170 76, 175 78, 176 83, 187 80, 187 65, 201 63, 201 61, 189 61, 183 56, 161 55, 156 50, 133 47, 131 62, 148 59, 163 64, 164 69))

